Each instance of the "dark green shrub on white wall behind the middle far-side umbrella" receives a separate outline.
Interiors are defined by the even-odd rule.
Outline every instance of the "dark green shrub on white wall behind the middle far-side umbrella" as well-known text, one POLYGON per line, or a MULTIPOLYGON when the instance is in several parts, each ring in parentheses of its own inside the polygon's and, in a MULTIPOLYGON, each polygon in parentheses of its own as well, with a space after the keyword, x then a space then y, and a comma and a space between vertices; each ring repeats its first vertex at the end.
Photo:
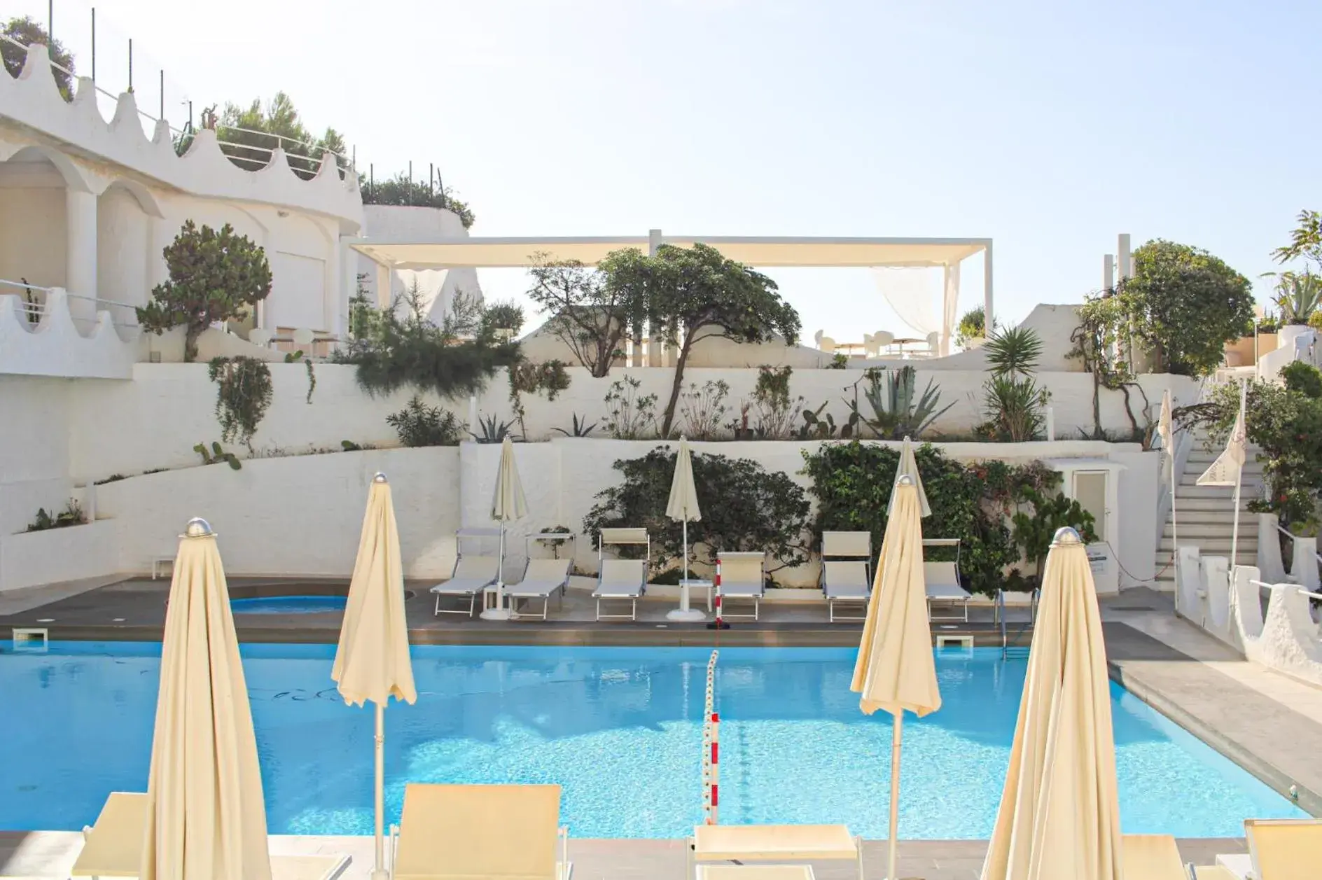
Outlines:
MULTIPOLYGON (((652 535, 652 567, 662 571, 682 555, 682 523, 665 514, 674 478, 676 451, 657 447, 641 458, 620 460, 623 482, 596 494, 583 531, 645 527, 652 535)), ((808 562, 808 497, 779 470, 750 458, 693 453, 693 481, 702 519, 689 523, 689 554, 715 562, 718 551, 765 550, 769 569, 808 562), (699 556, 699 546, 703 555, 699 556)))

